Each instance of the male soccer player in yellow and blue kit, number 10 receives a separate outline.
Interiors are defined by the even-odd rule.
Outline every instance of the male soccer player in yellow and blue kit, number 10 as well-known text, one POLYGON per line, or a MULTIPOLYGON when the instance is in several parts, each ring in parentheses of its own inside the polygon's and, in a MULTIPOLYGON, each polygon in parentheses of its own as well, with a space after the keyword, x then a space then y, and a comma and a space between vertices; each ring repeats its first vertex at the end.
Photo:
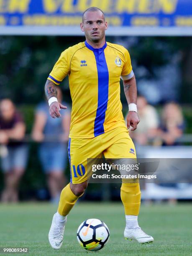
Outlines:
MULTIPOLYGON (((53 118, 59 118, 59 110, 66 108, 57 101, 55 84, 59 85, 67 75, 72 97, 68 146, 71 182, 61 192, 49 231, 49 242, 55 249, 63 242, 67 215, 87 188, 87 159, 100 158, 102 154, 108 159, 136 157, 120 102, 121 77, 129 106, 127 127, 132 126, 133 131, 139 118, 136 79, 129 53, 123 46, 105 41, 108 25, 102 10, 96 7, 85 10, 80 28, 86 41, 61 53, 45 85, 53 118)), ((125 238, 138 243, 153 242, 153 237, 146 235, 138 225, 139 183, 122 183, 120 196, 125 208, 125 238)))

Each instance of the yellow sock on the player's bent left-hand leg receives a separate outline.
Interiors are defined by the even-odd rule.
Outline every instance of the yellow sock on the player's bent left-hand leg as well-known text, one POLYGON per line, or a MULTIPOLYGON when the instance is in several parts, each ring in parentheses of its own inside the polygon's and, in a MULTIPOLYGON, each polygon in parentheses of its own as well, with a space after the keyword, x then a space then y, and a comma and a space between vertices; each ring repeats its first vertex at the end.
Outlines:
MULTIPOLYGON (((81 197, 82 195, 80 195, 79 197, 81 197)), ((73 194, 70 188, 70 183, 66 187, 64 187, 64 189, 61 191, 61 196, 59 200, 59 214, 62 216, 66 216, 70 212, 74 204, 77 202, 77 199, 79 197, 73 194)))

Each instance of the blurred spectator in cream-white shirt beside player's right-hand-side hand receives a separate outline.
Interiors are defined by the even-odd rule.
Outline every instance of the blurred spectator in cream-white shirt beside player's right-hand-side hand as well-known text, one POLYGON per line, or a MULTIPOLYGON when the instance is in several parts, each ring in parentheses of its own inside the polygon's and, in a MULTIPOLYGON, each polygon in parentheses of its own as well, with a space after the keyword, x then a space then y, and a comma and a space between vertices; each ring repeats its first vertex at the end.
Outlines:
POLYGON ((133 138, 136 145, 147 145, 149 139, 156 137, 159 118, 156 109, 148 105, 147 100, 143 96, 137 98, 137 109, 140 122, 135 131, 129 131, 131 138, 133 138))

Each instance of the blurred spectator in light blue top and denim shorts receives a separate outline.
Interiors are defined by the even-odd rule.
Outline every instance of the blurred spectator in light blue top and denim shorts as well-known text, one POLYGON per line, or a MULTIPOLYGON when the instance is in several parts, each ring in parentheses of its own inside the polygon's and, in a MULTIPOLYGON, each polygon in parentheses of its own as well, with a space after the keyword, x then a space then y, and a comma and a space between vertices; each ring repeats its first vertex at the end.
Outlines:
MULTIPOLYGON (((62 92, 57 87, 58 101, 62 102, 62 92)), ((65 102, 62 104, 66 105, 65 102)), ((71 113, 69 108, 61 110, 61 118, 51 118, 49 105, 42 102, 38 105, 35 114, 32 137, 35 141, 41 142, 39 146, 39 158, 44 172, 47 176, 47 183, 52 202, 58 202, 61 189, 64 187, 64 169, 67 160, 67 141, 71 113)))

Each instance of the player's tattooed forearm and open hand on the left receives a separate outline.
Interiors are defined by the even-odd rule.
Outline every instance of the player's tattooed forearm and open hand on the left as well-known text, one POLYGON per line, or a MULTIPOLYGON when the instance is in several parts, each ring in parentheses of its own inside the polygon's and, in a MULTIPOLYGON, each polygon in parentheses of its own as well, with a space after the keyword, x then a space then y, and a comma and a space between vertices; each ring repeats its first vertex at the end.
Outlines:
POLYGON ((66 109, 67 107, 56 101, 57 99, 57 89, 54 82, 47 79, 45 84, 45 95, 47 100, 50 100, 52 97, 55 98, 55 101, 50 104, 49 107, 49 113, 52 118, 59 118, 61 117, 61 114, 59 111, 62 109, 66 109))

